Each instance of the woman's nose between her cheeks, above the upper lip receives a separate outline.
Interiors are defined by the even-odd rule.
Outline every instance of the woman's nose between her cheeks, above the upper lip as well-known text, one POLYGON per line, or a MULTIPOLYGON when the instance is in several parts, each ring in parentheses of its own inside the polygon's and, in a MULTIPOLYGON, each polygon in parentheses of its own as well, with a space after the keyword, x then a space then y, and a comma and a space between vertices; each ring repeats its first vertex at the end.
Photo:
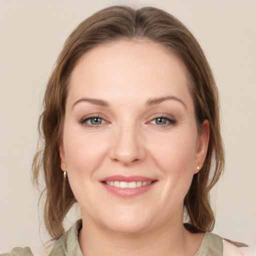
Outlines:
POLYGON ((146 157, 143 137, 134 126, 118 128, 109 149, 110 158, 123 165, 141 162, 146 157))

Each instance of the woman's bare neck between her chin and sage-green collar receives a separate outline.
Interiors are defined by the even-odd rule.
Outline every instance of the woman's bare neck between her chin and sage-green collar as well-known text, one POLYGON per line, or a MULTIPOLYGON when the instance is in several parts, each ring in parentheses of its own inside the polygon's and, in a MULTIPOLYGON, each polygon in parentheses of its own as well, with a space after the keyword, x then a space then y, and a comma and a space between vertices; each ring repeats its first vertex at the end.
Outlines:
POLYGON ((182 219, 138 233, 114 232, 91 219, 83 219, 83 223, 78 239, 84 256, 192 256, 203 237, 203 234, 188 232, 182 219))

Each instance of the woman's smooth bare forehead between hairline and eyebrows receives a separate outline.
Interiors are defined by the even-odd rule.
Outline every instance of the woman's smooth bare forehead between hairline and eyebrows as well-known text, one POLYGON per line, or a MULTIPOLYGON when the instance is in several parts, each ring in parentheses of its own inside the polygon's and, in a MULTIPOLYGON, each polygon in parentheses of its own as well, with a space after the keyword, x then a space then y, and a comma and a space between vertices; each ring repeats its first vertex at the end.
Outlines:
POLYGON ((73 69, 69 97, 189 96, 182 61, 158 43, 118 41, 86 52, 73 69))

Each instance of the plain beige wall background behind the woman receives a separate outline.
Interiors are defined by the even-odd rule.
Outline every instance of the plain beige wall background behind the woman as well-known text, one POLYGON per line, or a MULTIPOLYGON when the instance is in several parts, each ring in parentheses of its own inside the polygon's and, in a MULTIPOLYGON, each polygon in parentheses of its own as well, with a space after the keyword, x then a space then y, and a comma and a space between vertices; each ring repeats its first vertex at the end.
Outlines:
POLYGON ((46 255, 30 181, 45 84, 70 31, 120 3, 163 8, 201 44, 220 92, 226 149, 225 173, 212 191, 214 232, 256 244, 255 0, 0 0, 0 251, 28 245, 46 255))

